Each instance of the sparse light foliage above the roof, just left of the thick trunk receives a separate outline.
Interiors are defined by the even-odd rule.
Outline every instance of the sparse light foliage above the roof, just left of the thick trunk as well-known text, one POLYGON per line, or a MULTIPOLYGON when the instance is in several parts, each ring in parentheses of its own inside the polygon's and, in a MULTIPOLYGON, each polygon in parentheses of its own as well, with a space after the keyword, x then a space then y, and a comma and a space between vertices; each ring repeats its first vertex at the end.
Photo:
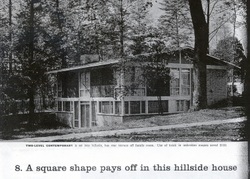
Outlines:
POLYGON ((164 0, 161 5, 164 14, 159 18, 159 31, 167 46, 176 50, 192 45, 193 29, 187 2, 164 0))

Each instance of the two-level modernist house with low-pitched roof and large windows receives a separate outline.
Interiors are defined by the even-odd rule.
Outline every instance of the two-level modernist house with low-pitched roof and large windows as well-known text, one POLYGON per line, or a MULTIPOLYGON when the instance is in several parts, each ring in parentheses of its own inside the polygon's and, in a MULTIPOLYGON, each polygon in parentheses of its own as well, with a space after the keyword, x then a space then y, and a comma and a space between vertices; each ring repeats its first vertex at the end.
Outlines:
MULTIPOLYGON (((57 76, 57 116, 71 127, 115 125, 131 116, 179 113, 192 106, 192 50, 166 56, 170 79, 159 94, 150 89, 142 75, 142 63, 128 60, 99 61, 82 56, 82 64, 51 71, 57 76), (189 55, 188 55, 189 54, 189 55), (191 55, 190 55, 191 54, 191 55), (127 88, 127 87, 130 88, 127 88)), ((227 98, 227 64, 207 55, 207 98, 214 104, 227 98)))

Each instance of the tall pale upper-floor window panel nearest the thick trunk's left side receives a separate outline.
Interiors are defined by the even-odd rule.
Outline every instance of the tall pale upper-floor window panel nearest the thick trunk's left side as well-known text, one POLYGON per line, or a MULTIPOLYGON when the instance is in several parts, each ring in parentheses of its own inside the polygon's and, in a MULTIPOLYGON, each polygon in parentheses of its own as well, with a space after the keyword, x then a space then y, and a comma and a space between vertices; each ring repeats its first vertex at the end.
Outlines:
POLYGON ((181 70, 181 94, 190 95, 190 69, 181 70))

